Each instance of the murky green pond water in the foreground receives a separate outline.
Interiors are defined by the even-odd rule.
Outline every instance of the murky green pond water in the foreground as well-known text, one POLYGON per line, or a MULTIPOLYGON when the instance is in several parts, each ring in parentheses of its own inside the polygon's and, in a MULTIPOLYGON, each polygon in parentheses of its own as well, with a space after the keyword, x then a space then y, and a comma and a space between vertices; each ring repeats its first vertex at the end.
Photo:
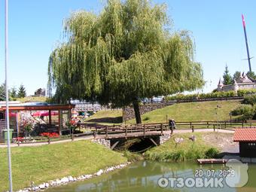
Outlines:
MULTIPOLYGON (((148 161, 139 161, 124 169, 115 170, 114 172, 108 172, 101 176, 88 179, 86 181, 78 181, 71 184, 66 184, 60 187, 52 187, 46 190, 47 192, 148 192, 148 191, 194 191, 194 192, 250 192, 256 191, 256 164, 248 164, 248 182, 244 187, 232 188, 229 187, 225 180, 224 185, 218 187, 190 187, 177 186, 177 182, 174 182, 174 187, 169 185, 167 187, 160 187, 158 180, 163 177, 178 177, 178 178, 203 178, 202 175, 211 178, 213 175, 217 175, 217 178, 221 178, 224 174, 223 170, 227 170, 221 164, 215 165, 203 165, 200 166, 197 163, 156 163, 148 161), (213 174, 213 175, 212 175, 213 174)), ((230 169, 231 170, 231 169, 230 169)), ((228 172, 226 172, 229 174, 228 172)), ((226 174, 226 175, 227 175, 226 174)), ((246 175, 245 175, 246 176, 246 175)), ((164 180, 166 181, 166 180, 164 180)), ((164 182, 163 182, 164 184, 164 182)), ((193 184, 193 182, 188 182, 193 184)))

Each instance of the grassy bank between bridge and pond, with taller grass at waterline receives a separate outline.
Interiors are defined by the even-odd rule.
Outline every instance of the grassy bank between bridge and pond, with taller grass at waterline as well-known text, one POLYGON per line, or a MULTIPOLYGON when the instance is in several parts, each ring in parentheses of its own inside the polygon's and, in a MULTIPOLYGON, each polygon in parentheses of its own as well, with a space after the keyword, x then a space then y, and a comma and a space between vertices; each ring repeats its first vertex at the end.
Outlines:
POLYGON ((215 133, 183 133, 175 134, 163 145, 151 148, 145 152, 145 158, 157 161, 186 161, 198 158, 212 158, 219 149, 203 140, 203 134, 215 133), (189 138, 194 135, 195 142, 189 138), (183 142, 176 144, 175 139, 182 138, 183 142))

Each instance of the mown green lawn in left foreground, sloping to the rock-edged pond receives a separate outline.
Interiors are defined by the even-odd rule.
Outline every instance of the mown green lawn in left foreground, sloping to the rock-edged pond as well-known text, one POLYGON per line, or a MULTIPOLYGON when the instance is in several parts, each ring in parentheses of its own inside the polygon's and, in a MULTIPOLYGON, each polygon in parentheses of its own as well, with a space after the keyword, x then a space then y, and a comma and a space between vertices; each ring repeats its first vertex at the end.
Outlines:
MULTIPOLYGON (((126 162, 126 157, 90 141, 11 148, 14 190, 67 175, 90 174, 126 162)), ((0 191, 8 190, 7 149, 0 148, 0 191)))

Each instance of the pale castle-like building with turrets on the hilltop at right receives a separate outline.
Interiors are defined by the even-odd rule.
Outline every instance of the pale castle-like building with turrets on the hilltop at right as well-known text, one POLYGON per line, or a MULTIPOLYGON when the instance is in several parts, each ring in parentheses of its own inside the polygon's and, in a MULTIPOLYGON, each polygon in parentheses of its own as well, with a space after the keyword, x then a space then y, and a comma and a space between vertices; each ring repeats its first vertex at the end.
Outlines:
POLYGON ((218 81, 218 91, 230 91, 230 90, 251 90, 256 89, 256 80, 248 77, 245 73, 242 73, 239 78, 237 78, 233 84, 223 84, 223 82, 218 81))

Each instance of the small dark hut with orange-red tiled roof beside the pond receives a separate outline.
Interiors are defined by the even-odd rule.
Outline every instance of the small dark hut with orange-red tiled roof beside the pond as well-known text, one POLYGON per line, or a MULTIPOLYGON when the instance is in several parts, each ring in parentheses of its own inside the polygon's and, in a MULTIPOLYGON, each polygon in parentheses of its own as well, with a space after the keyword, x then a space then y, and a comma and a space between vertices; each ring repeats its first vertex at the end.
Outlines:
POLYGON ((256 157, 256 128, 237 128, 233 142, 239 142, 240 157, 256 157))

